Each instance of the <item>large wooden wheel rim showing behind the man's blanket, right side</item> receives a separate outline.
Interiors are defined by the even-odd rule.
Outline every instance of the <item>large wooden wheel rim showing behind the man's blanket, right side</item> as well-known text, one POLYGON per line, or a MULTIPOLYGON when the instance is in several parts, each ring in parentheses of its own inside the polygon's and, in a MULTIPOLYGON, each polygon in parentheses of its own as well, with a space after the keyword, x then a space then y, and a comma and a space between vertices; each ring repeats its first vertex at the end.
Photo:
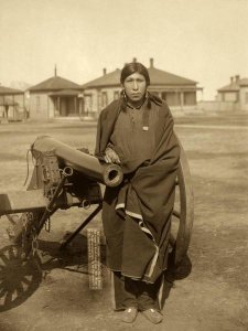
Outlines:
POLYGON ((173 264, 179 265, 186 255, 194 221, 194 195, 192 178, 185 151, 181 146, 176 177, 175 204, 172 215, 171 245, 173 264))

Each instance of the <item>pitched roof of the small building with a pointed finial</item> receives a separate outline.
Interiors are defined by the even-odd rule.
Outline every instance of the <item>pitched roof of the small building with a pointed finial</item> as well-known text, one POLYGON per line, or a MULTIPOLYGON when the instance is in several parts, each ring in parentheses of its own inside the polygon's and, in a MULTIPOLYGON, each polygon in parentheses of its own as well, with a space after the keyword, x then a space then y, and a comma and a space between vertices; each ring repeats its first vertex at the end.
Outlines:
POLYGON ((31 86, 29 90, 35 92, 35 90, 75 89, 75 88, 76 89, 80 88, 80 85, 60 76, 53 76, 37 85, 31 86))

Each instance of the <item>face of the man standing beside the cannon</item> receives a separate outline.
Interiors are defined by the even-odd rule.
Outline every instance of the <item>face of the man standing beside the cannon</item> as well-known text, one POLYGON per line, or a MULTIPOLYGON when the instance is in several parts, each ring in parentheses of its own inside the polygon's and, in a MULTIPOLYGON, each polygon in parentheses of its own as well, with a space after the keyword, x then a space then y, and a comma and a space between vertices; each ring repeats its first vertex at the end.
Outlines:
POLYGON ((147 82, 144 76, 139 73, 131 74, 125 79, 123 88, 131 102, 140 102, 147 90, 147 82))

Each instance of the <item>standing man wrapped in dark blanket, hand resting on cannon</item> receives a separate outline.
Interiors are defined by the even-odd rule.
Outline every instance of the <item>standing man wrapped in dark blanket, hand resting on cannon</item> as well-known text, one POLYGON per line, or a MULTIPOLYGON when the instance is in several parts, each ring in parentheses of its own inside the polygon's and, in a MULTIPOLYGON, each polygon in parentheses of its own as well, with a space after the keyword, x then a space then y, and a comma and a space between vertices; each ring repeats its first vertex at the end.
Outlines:
POLYGON ((120 164, 125 173, 104 196, 107 265, 122 320, 133 322, 141 311, 159 323, 180 147, 166 103, 148 92, 148 70, 129 63, 120 83, 121 96, 101 111, 96 139, 96 156, 120 164))

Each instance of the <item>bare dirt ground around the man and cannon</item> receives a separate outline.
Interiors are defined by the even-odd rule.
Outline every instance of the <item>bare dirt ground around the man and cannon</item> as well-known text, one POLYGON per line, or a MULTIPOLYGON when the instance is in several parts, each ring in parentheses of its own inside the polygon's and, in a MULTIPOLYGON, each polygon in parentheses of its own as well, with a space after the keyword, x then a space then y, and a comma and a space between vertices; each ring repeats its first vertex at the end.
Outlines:
MULTIPOLYGON (((0 331, 248 330, 248 116, 176 118, 175 131, 191 167, 195 218, 188 254, 165 281, 164 321, 152 325, 139 314, 123 324, 111 309, 105 265, 103 290, 89 290, 85 231, 60 250, 89 213, 69 209, 42 232, 40 264, 20 263, 6 234, 9 221, 0 218, 0 331)), ((0 193, 25 191, 26 151, 37 136, 93 151, 95 132, 94 122, 0 125, 0 193)), ((100 215, 88 227, 101 228, 100 215)))

